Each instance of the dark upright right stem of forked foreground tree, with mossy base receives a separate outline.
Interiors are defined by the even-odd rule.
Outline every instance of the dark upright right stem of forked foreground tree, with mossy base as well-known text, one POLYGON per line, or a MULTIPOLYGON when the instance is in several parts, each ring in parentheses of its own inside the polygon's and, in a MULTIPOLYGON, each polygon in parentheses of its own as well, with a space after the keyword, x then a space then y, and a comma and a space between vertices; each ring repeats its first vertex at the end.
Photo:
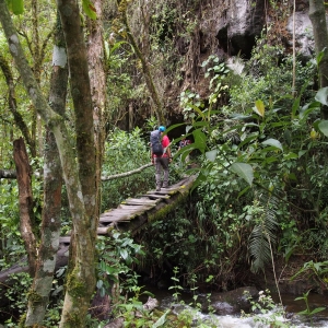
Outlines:
MULTIPOLYGON (((83 197, 83 212, 72 218, 74 243, 70 247, 67 292, 60 327, 84 327, 84 318, 95 289, 95 241, 98 220, 93 107, 86 47, 78 2, 65 0, 58 1, 57 5, 68 51, 70 89, 75 116, 79 178, 83 197)), ((71 197, 75 195, 79 197, 79 194, 71 197)))

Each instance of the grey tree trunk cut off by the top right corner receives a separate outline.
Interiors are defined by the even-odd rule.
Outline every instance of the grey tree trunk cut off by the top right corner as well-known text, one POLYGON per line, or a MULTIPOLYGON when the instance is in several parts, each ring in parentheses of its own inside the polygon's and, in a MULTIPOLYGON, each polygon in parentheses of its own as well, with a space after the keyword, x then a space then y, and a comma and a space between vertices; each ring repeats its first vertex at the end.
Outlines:
MULTIPOLYGON (((323 51, 323 58, 318 63, 319 86, 328 86, 328 32, 326 11, 323 0, 309 0, 308 16, 313 26, 316 55, 323 51)), ((321 107, 321 117, 328 119, 328 106, 321 107)))

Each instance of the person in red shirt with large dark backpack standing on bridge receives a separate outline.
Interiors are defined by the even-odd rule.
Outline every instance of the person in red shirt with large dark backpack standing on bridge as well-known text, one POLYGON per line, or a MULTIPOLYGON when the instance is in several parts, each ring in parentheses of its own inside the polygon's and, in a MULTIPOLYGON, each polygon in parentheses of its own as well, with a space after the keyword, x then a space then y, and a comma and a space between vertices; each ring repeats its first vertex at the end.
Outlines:
POLYGON ((160 141, 162 139, 161 141, 162 152, 157 152, 155 154, 154 149, 156 148, 156 144, 154 143, 157 141, 151 140, 151 160, 152 163, 155 165, 156 191, 160 191, 162 187, 168 188, 168 164, 172 162, 172 156, 171 156, 171 149, 169 149, 169 139, 166 134, 163 136, 164 131, 165 131, 165 127, 161 126, 159 128, 157 134, 161 137, 160 141), (162 184, 162 172, 164 172, 163 184, 162 184))

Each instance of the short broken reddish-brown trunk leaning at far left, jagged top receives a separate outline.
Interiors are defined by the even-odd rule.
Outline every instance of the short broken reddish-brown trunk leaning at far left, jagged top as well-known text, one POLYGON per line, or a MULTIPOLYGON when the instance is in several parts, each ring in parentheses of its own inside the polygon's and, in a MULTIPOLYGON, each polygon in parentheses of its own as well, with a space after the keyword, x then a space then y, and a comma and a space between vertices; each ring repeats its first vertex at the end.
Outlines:
POLYGON ((30 166, 24 139, 14 140, 14 161, 17 173, 19 197, 20 197, 20 223, 21 235, 27 251, 30 274, 34 277, 36 269, 36 238, 33 230, 35 229, 33 213, 32 195, 32 168, 30 166))

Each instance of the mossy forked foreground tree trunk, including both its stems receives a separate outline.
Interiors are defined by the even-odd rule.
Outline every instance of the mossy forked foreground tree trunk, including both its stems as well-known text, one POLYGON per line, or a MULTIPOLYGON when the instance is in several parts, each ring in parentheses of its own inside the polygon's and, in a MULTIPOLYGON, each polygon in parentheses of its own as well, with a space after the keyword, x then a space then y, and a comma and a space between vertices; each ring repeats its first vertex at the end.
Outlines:
POLYGON ((65 118, 51 109, 43 95, 24 56, 5 0, 0 0, 0 21, 28 97, 56 138, 67 187, 73 223, 74 251, 70 258, 59 327, 84 327, 84 318, 95 288, 94 246, 97 219, 93 112, 86 49, 78 3, 68 0, 59 1, 57 5, 68 51, 77 139, 69 133, 65 118))

